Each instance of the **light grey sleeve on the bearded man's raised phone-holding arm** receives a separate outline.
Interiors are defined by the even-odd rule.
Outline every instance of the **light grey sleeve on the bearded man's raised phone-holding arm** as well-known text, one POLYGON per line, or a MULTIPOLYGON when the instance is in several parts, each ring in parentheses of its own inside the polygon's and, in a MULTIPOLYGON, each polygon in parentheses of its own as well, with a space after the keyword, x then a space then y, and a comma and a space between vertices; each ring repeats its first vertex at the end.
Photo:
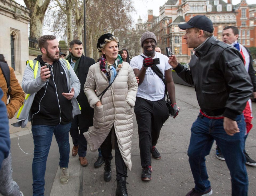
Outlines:
POLYGON ((29 63, 23 74, 21 87, 27 94, 32 94, 39 91, 47 81, 43 81, 40 77, 41 66, 38 65, 37 77, 34 78, 34 70, 30 67, 29 63))

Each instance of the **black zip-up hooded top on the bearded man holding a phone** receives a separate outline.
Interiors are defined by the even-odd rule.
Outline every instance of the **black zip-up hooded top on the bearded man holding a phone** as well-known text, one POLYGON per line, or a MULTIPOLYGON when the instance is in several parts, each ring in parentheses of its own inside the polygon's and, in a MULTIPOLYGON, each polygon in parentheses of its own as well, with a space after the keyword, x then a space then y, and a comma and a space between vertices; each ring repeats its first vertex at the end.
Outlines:
MULTIPOLYGON (((38 55, 41 65, 45 64, 42 55, 38 55)), ((49 66, 51 76, 48 83, 44 85, 35 95, 31 110, 33 115, 33 125, 67 124, 72 121, 72 103, 66 99, 62 93, 69 93, 65 71, 61 63, 54 61, 49 66), (52 68, 51 68, 52 67, 52 68)))

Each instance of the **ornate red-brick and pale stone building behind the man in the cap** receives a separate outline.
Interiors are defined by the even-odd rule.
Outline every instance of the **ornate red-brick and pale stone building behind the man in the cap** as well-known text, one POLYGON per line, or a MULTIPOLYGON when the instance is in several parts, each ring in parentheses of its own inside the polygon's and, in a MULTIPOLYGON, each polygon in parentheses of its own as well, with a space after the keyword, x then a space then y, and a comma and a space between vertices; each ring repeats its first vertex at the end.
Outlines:
MULTIPOLYGON (((224 27, 232 25, 239 29, 239 42, 246 47, 256 47, 256 4, 248 5, 242 0, 232 5, 222 0, 168 0, 159 8, 160 15, 153 16, 153 10, 148 10, 144 30, 149 30, 157 36, 158 47, 165 51, 170 46, 179 62, 188 63, 193 54, 192 48, 187 48, 183 39, 185 30, 178 25, 189 21, 195 15, 206 15, 214 25, 214 36, 221 40, 224 27)), ((142 21, 140 21, 142 26, 142 21)), ((141 27, 142 28, 142 27, 141 27)))

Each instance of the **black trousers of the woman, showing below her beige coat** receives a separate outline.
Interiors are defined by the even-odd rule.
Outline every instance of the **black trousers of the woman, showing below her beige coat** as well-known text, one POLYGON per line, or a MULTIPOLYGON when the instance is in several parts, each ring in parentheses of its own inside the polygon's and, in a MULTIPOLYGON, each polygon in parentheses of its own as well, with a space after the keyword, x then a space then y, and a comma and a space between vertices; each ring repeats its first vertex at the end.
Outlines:
MULTIPOLYGON (((114 132, 114 135, 115 135, 114 127, 109 132, 105 141, 101 144, 101 154, 105 161, 113 159, 113 156, 111 153, 112 152, 112 143, 111 143, 112 132, 114 132)), ((123 161, 123 157, 118 148, 116 135, 114 140, 115 140, 114 141, 115 142, 115 168, 117 170, 116 180, 119 180, 121 177, 127 178, 127 166, 125 165, 125 162, 123 161)))

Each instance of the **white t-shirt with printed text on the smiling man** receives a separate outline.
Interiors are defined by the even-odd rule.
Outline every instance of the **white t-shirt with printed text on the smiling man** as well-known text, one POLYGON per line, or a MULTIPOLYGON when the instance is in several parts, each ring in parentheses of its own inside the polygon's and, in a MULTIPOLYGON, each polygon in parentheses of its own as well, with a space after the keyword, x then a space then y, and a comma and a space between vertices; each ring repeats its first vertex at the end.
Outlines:
MULTIPOLYGON (((145 56, 145 55, 142 54, 142 56, 145 56)), ((141 55, 134 56, 131 59, 130 66, 133 69, 139 69, 139 70, 144 69, 142 65, 144 58, 142 56, 141 55)), ((147 58, 147 56, 145 57, 147 58)), ((163 76, 165 76, 165 71, 171 68, 171 66, 168 63, 169 58, 158 52, 155 52, 155 56, 153 58, 154 59, 159 58, 160 64, 156 66, 162 72, 163 76)), ((150 67, 147 68, 145 78, 138 87, 137 96, 150 101, 158 101, 162 99, 164 95, 165 95, 165 84, 163 83, 161 78, 158 77, 158 75, 156 75, 153 70, 151 70, 150 67)))

